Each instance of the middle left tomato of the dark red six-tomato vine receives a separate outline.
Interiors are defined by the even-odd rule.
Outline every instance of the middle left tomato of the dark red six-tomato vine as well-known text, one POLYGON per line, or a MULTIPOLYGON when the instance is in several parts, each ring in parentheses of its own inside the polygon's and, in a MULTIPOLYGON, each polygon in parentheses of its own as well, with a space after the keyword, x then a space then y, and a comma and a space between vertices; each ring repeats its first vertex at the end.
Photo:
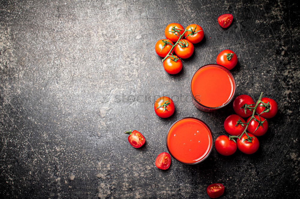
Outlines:
POLYGON ((229 135, 235 135, 238 136, 240 135, 244 129, 245 129, 245 124, 238 124, 237 126, 235 126, 237 124, 237 121, 241 120, 242 123, 246 123, 245 120, 238 115, 232 114, 229 115, 225 121, 224 121, 224 128, 225 131, 229 134, 229 135))

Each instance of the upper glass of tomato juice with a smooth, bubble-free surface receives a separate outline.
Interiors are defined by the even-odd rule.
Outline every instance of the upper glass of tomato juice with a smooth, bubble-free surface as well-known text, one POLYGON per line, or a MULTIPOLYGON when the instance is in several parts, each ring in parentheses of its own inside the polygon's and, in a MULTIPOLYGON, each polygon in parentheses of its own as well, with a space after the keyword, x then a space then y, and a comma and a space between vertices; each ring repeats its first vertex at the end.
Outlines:
POLYGON ((211 112, 229 104, 235 94, 235 79, 230 71, 217 64, 200 67, 190 80, 193 104, 211 112))

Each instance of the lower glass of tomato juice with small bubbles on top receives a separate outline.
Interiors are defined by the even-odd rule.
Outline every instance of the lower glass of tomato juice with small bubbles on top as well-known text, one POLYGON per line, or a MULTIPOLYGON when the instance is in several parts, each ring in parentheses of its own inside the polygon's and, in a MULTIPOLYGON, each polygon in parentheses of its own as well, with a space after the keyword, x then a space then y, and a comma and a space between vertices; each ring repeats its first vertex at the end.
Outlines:
POLYGON ((213 137, 208 125, 195 117, 177 120, 169 129, 167 149, 179 162, 197 164, 211 152, 213 137))

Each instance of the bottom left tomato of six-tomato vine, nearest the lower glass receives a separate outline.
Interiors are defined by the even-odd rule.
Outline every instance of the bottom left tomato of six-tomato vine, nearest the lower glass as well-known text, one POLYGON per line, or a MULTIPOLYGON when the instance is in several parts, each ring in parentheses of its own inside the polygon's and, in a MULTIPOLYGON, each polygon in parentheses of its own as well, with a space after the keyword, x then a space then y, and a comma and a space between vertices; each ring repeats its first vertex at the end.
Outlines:
POLYGON ((234 154, 237 147, 235 141, 229 140, 229 137, 226 135, 217 137, 214 146, 219 154, 225 156, 234 154))

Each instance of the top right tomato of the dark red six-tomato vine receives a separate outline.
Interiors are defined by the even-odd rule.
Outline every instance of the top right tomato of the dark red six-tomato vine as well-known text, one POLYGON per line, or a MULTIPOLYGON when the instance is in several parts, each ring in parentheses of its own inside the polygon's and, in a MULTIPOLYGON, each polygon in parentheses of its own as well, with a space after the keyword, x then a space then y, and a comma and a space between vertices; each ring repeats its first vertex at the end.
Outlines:
POLYGON ((274 117, 278 111, 278 105, 275 102, 275 100, 272 100, 271 98, 268 98, 268 97, 263 97, 262 102, 264 102, 266 104, 269 103, 268 108, 262 106, 263 105, 262 103, 259 103, 259 105, 256 108, 256 113, 258 113, 259 116, 262 116, 264 118, 274 117), (262 113, 265 110, 269 110, 269 111, 262 113))

